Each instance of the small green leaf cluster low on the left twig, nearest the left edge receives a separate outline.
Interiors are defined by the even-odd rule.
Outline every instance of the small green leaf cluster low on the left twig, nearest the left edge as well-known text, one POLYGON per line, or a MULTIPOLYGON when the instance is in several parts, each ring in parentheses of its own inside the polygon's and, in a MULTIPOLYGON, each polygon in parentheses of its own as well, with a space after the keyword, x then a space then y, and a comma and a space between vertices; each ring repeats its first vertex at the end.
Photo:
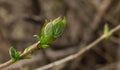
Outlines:
POLYGON ((19 60, 21 52, 16 51, 13 47, 10 47, 9 54, 13 62, 16 62, 19 60))

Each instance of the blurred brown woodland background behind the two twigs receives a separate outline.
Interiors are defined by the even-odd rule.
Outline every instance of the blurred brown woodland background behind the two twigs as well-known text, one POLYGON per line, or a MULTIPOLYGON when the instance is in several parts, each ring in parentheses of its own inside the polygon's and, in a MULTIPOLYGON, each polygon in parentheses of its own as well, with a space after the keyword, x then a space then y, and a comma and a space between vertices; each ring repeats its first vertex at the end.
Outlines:
MULTIPOLYGON (((10 59, 9 48, 23 51, 37 42, 45 19, 66 16, 64 33, 47 49, 4 70, 33 70, 78 52, 120 24, 120 0, 0 0, 0 63, 10 59)), ((120 70, 120 30, 79 57, 49 70, 120 70)))

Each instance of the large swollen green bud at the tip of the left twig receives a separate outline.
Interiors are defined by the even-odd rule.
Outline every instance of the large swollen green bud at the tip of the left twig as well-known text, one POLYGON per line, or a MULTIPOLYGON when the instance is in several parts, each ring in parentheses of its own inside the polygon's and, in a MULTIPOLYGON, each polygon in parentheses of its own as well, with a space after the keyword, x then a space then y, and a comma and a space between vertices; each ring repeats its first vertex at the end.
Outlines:
POLYGON ((41 30, 41 36, 34 35, 40 41, 42 48, 48 47, 48 44, 52 43, 58 36, 62 34, 66 26, 66 18, 58 17, 57 19, 48 22, 45 21, 45 25, 41 30))

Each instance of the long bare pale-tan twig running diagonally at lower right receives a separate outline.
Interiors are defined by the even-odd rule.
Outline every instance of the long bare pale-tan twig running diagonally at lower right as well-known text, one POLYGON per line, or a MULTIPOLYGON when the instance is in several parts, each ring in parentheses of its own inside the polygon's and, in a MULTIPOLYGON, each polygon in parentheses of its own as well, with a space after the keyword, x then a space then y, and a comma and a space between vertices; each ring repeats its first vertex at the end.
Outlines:
MULTIPOLYGON (((120 30, 120 25, 116 26, 115 28, 113 28, 109 33, 113 34, 114 32, 120 30)), ((94 42, 92 42, 91 44, 89 44, 88 46, 86 46, 85 48, 82 48, 78 53, 72 54, 68 57, 65 57, 61 60, 55 61, 53 63, 50 63, 48 65, 42 66, 40 68, 37 68, 35 70, 46 70, 49 68, 52 68, 54 66, 60 65, 62 63, 65 63, 67 61, 73 60, 75 58, 77 58, 78 56, 81 56, 82 54, 84 54, 86 51, 90 50, 91 48, 93 48, 96 44, 98 44, 99 42, 101 42, 102 40, 104 40, 106 38, 105 34, 103 34, 102 36, 100 36, 98 39, 96 39, 94 42)))

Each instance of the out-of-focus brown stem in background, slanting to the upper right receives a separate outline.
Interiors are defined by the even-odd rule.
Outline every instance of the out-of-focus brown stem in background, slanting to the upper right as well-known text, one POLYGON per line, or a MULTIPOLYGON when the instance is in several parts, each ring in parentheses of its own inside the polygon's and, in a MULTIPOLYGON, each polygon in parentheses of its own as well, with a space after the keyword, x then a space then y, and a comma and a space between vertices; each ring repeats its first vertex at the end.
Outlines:
MULTIPOLYGON (((89 26, 89 28, 85 29, 84 38, 82 42, 82 46, 86 45, 87 42, 90 42, 90 40, 93 38, 93 32, 98 28, 100 25, 100 21, 102 20, 102 17, 105 15, 107 9, 109 8, 109 5, 111 4, 111 0, 104 0, 102 4, 99 7, 96 7, 97 13, 94 16, 94 20, 91 22, 92 25, 89 26), (87 32, 89 31, 89 32, 87 32), (88 36, 89 35, 89 36, 88 36), (87 36, 87 37, 86 37, 87 36)), ((77 67, 78 61, 80 61, 79 57, 73 61, 73 63, 70 65, 71 70, 74 70, 74 68, 77 67)))

